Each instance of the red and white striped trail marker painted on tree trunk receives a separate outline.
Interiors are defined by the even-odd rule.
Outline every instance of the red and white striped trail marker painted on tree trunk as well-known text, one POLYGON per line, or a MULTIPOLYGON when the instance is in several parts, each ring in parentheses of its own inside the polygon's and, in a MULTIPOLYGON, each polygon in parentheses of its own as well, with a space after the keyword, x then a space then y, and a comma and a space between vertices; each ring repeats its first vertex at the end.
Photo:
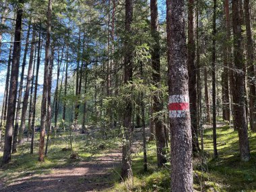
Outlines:
POLYGON ((168 110, 170 118, 187 117, 187 114, 189 113, 189 96, 169 96, 168 110))

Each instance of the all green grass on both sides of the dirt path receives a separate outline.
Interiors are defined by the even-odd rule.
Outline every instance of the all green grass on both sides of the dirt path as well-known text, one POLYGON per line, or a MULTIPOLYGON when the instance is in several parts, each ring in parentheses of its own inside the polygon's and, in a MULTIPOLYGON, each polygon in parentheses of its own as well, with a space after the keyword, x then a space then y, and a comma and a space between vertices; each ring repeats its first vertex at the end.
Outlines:
MULTIPOLYGON (((69 133, 59 133, 52 138, 49 154, 44 163, 38 162, 38 135, 34 154, 30 154, 30 143, 19 146, 18 153, 13 154, 11 162, 0 170, 0 179, 7 184, 20 177, 29 175, 49 174, 53 168, 77 164, 79 161, 89 161, 104 154, 109 149, 115 149, 120 144, 118 137, 100 139, 86 135, 72 137, 73 150, 79 154, 79 160, 71 160, 69 148, 69 133), (64 137, 63 137, 64 136, 64 137), (104 148, 102 148, 104 146, 104 148)), ((256 191, 256 133, 249 132, 251 160, 241 162, 238 150, 238 133, 228 126, 217 129, 217 144, 219 158, 214 159, 212 145, 212 129, 205 129, 203 143, 204 153, 193 159, 193 179, 195 191, 200 191, 204 185, 205 191, 256 191), (203 160, 203 163, 201 163, 203 160), (203 170, 203 171, 202 171, 203 170)), ((167 152, 169 154, 169 152, 167 152)), ((1 154, 0 154, 1 156, 1 154)), ((170 158, 168 156, 168 158, 170 158)), ((143 153, 141 150, 132 157, 133 181, 121 182, 119 168, 112 170, 114 187, 106 191, 170 191, 170 165, 159 169, 156 166, 156 143, 148 143, 148 172, 143 172, 143 153)), ((1 160, 1 159, 0 159, 1 160)))

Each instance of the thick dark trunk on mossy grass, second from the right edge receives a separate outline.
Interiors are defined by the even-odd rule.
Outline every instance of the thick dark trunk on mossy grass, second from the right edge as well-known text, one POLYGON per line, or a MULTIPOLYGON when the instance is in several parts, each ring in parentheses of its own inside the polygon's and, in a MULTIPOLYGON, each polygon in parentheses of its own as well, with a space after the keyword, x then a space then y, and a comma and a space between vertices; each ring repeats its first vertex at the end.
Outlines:
POLYGON ((243 71, 245 64, 243 63, 243 50, 241 49, 242 33, 241 33, 241 14, 239 13, 239 1, 232 0, 232 22, 234 34, 234 87, 232 90, 234 101, 234 113, 238 137, 239 149, 242 161, 250 159, 249 139, 247 133, 247 119, 245 110, 245 73, 243 71), (236 93, 236 94, 235 94, 236 93))

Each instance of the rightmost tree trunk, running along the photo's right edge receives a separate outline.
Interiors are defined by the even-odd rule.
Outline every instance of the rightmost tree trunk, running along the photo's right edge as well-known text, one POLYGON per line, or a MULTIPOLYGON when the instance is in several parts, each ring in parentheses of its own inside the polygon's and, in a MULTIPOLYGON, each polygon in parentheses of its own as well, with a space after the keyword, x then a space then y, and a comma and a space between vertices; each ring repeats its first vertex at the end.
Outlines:
POLYGON ((255 90, 255 69, 254 69, 254 45, 251 33, 251 15, 249 11, 249 0, 244 0, 245 9, 245 26, 247 33, 247 74, 248 74, 248 84, 249 84, 249 112, 250 112, 250 127, 251 130, 256 131, 256 90, 255 90))

